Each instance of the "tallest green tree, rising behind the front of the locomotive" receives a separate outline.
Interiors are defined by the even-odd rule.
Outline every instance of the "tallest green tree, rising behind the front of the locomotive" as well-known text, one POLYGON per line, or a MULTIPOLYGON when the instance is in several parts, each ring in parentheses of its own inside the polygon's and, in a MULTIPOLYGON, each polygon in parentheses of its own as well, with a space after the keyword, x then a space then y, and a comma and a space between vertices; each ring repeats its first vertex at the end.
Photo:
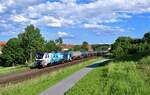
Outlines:
POLYGON ((25 28, 25 31, 18 35, 21 41, 21 47, 24 49, 26 62, 32 61, 36 52, 44 51, 44 38, 40 34, 40 30, 33 25, 25 28))

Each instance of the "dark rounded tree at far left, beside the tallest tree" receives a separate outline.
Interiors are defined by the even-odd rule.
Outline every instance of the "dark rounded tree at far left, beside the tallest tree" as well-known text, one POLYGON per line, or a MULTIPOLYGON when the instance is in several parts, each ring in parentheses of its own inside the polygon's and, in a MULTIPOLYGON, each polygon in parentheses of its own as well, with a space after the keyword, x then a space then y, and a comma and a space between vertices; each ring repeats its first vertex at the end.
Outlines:
POLYGON ((2 50, 2 60, 4 66, 12 66, 24 63, 23 49, 20 47, 20 41, 17 38, 10 39, 2 50))

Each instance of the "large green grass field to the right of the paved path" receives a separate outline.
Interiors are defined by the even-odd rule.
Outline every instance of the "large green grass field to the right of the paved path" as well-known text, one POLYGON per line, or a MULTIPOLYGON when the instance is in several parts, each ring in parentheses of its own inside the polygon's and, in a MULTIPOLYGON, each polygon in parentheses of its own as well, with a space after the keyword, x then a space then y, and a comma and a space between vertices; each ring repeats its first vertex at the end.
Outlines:
POLYGON ((127 61, 96 67, 65 95, 150 95, 148 61, 144 58, 140 61, 144 64, 127 61))

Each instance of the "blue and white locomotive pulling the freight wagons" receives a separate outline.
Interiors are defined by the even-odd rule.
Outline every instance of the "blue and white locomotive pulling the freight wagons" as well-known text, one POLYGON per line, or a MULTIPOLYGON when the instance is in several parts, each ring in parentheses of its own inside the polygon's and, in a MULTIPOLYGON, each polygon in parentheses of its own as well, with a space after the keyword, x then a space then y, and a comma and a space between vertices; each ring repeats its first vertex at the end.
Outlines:
POLYGON ((46 67, 47 65, 54 65, 67 61, 72 61, 71 52, 45 52, 36 54, 37 67, 46 67))

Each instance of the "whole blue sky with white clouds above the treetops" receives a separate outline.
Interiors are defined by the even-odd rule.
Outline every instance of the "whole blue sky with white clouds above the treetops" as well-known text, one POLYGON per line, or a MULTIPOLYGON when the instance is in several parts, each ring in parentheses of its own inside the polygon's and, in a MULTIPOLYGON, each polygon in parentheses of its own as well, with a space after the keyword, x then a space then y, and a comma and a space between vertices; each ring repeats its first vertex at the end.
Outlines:
POLYGON ((150 31, 150 0, 0 0, 0 41, 33 24, 45 40, 113 43, 150 31))

